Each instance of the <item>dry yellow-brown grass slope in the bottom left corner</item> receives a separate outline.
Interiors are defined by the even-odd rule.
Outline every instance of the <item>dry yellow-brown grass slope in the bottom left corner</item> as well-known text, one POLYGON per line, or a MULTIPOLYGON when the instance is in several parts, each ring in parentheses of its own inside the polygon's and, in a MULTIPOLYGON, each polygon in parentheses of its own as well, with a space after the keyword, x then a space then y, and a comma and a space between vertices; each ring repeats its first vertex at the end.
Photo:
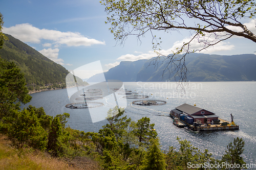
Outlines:
MULTIPOLYGON (((82 159, 82 158, 80 158, 82 159)), ((0 167, 6 170, 39 170, 39 169, 100 169, 93 160, 79 162, 67 162, 58 158, 53 158, 47 153, 32 150, 30 148, 15 149, 11 147, 11 142, 0 134, 0 167), (85 164, 85 165, 84 165, 85 164)))

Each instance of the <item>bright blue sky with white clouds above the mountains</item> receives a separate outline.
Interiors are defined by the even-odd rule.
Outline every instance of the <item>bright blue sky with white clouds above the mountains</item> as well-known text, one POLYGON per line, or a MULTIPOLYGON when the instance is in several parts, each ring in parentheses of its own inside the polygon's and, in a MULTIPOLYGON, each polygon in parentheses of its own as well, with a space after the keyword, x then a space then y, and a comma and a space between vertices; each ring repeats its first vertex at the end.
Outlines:
MULTIPOLYGON (((156 54, 152 37, 146 35, 141 42, 130 36, 119 45, 111 34, 108 16, 99 1, 95 0, 11 0, 1 1, 0 12, 4 16, 3 32, 27 43, 44 56, 74 70, 100 60, 104 71, 121 61, 150 59, 156 54)), ((247 27, 256 34, 255 21, 245 19, 247 27)), ((173 49, 190 36, 189 31, 155 32, 162 39, 162 53, 173 49)), ((196 42, 192 46, 197 47, 196 42)), ((256 43, 234 37, 217 44, 202 53, 218 55, 256 54, 256 43)), ((83 79, 97 74, 91 71, 83 79)))

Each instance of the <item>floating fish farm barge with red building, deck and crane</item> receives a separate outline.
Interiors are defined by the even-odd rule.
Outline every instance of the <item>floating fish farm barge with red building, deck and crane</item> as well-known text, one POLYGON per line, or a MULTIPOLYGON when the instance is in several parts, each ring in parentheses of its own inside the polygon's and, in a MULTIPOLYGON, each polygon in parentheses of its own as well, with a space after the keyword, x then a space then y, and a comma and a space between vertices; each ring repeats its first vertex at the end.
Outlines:
POLYGON ((239 129, 239 126, 233 122, 232 114, 230 115, 231 122, 228 122, 219 118, 215 113, 186 103, 176 107, 169 113, 169 116, 172 117, 174 121, 179 120, 180 123, 193 131, 239 129))

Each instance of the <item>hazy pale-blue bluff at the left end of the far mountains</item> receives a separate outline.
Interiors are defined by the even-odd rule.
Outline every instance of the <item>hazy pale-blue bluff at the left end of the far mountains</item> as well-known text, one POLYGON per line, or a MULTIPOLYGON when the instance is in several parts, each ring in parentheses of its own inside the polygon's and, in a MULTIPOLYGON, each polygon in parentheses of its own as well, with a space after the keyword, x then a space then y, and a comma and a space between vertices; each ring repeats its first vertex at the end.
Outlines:
MULTIPOLYGON (((134 82, 141 67, 147 60, 122 61, 119 65, 104 72, 106 80, 120 80, 122 82, 134 82)), ((105 81, 102 74, 97 74, 87 80, 87 82, 105 81)))

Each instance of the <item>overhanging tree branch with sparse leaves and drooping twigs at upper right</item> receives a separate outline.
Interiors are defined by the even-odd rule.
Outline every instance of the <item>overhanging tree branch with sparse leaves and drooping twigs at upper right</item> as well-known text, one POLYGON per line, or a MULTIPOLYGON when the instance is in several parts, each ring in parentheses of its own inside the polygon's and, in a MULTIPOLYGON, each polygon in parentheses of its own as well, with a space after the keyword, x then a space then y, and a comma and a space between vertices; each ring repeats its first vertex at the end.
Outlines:
MULTIPOLYGON (((206 50, 234 35, 256 42, 256 36, 242 23, 244 18, 255 17, 253 0, 104 0, 100 3, 109 15, 106 23, 111 23, 110 31, 117 42, 123 44, 130 35, 140 40, 150 33, 156 54, 168 61, 164 72, 174 72, 179 81, 186 81, 186 54, 206 50), (155 30, 168 33, 189 30, 191 37, 167 56, 161 54, 161 38, 155 35, 155 30), (194 41, 200 44, 199 49, 191 48, 194 41), (176 57, 177 54, 182 55, 176 57)), ((159 62, 156 58, 151 64, 159 62)))

